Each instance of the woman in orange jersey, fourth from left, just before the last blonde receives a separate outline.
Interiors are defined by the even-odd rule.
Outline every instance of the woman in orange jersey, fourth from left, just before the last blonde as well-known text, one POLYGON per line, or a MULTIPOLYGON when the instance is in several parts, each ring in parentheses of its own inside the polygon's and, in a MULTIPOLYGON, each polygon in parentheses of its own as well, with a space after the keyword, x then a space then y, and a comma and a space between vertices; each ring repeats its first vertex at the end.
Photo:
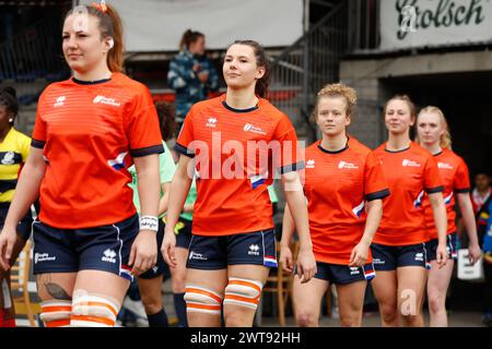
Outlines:
POLYGON ((395 96, 384 109, 388 141, 374 154, 380 160, 391 195, 371 250, 377 278, 372 282, 383 326, 422 326, 421 308, 426 280, 427 234, 422 200, 426 193, 437 229, 436 265, 446 253, 444 186, 431 153, 410 141, 417 112, 408 96, 395 96))

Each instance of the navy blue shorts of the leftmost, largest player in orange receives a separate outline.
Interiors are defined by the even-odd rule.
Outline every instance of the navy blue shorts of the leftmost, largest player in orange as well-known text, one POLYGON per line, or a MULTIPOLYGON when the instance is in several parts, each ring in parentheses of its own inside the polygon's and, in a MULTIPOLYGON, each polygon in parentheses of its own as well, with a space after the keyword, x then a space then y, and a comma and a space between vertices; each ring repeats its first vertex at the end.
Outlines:
POLYGON ((132 280, 128 261, 139 230, 138 215, 87 229, 57 229, 36 220, 33 224, 34 274, 92 269, 132 280))

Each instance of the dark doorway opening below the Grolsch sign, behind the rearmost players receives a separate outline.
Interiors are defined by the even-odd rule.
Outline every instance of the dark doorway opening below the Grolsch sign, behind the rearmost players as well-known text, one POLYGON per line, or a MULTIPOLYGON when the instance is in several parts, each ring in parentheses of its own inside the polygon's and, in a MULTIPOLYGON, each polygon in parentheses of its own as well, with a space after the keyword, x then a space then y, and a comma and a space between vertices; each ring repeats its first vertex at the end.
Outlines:
POLYGON ((440 107, 453 136, 453 149, 471 176, 492 172, 492 72, 470 72, 385 79, 389 95, 408 94, 418 108, 440 107))

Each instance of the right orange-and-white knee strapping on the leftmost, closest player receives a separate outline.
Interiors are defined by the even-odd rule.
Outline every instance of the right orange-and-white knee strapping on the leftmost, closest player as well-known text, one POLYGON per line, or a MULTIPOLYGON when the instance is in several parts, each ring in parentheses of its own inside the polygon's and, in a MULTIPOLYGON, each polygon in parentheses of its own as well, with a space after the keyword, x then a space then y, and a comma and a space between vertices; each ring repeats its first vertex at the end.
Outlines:
POLYGON ((119 305, 102 296, 84 294, 73 300, 72 327, 113 327, 119 305))

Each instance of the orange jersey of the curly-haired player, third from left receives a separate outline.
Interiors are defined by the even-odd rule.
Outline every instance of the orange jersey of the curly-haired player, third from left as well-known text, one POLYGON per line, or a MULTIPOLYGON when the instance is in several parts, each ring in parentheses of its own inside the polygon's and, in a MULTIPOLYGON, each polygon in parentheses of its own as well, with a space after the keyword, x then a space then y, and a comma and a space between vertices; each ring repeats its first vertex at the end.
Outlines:
POLYGON ((379 161, 354 139, 340 152, 320 141, 306 149, 304 193, 316 261, 342 265, 364 233, 365 202, 389 195, 379 161))

